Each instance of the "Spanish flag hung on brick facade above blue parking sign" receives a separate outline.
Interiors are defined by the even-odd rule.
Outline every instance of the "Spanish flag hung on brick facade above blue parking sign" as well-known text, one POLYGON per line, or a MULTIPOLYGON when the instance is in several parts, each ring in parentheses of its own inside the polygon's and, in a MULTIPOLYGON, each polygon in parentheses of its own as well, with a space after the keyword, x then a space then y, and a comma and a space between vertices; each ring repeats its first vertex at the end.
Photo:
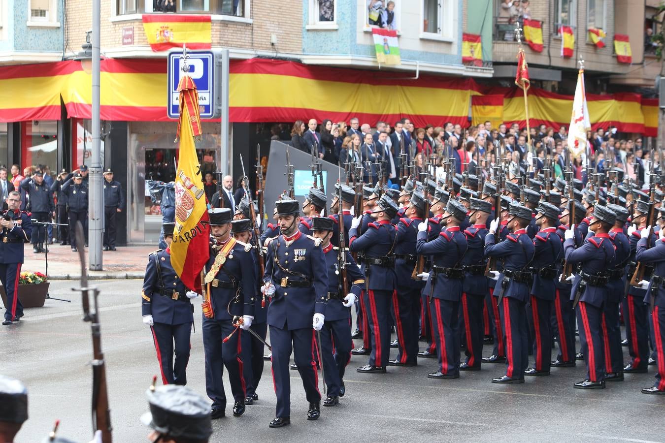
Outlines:
POLYGON ((211 22, 209 15, 144 14, 143 29, 150 48, 157 52, 170 48, 209 49, 211 22))

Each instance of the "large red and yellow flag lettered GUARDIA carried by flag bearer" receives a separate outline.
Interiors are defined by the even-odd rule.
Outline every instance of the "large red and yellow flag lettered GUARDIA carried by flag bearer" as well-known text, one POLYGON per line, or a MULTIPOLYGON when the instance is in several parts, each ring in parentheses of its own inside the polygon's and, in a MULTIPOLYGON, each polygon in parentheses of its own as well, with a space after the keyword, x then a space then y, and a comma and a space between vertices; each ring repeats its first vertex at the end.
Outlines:
POLYGON ((209 218, 201 181, 201 165, 194 138, 201 137, 198 92, 194 80, 183 76, 180 91, 180 153, 176 173, 176 228, 171 244, 171 264, 180 280, 201 292, 201 270, 209 258, 209 218))

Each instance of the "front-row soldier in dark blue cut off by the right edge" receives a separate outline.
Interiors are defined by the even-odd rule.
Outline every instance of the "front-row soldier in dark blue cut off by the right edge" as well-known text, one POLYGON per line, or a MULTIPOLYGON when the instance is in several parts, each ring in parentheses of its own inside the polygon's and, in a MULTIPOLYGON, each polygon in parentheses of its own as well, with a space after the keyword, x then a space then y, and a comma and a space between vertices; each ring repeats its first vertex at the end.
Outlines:
MULTIPOLYGON (((654 226, 655 227, 655 226, 654 226)), ((656 348, 656 382, 652 387, 642 388, 643 394, 665 394, 665 231, 658 231, 658 241, 646 247, 648 229, 640 232, 637 243, 636 259, 654 266, 644 302, 650 307, 650 319, 654 330, 654 348, 656 348), (647 231, 647 232, 644 232, 647 231)))

